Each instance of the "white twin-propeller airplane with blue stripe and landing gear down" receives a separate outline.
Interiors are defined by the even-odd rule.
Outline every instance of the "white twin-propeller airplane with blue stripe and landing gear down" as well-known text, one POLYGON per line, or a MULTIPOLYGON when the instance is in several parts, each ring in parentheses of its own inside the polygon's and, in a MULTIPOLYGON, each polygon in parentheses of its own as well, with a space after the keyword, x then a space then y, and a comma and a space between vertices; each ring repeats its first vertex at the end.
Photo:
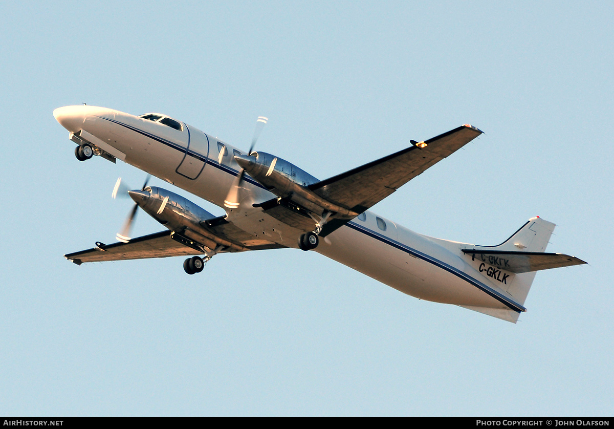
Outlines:
MULTIPOLYGON (((481 135, 461 125, 325 180, 275 155, 254 151, 266 124, 258 117, 249 151, 164 114, 141 116, 96 106, 65 106, 55 119, 75 155, 121 160, 225 210, 214 216, 161 187, 127 191, 134 208, 118 242, 64 255, 83 262, 187 256, 193 275, 218 253, 299 248, 316 251, 399 291, 518 321, 538 270, 586 264, 545 253, 554 224, 529 219, 495 246, 418 234, 368 210, 427 168, 481 135), (130 238, 141 208, 166 227, 130 238)), ((118 181, 114 195, 122 191, 118 181)))

